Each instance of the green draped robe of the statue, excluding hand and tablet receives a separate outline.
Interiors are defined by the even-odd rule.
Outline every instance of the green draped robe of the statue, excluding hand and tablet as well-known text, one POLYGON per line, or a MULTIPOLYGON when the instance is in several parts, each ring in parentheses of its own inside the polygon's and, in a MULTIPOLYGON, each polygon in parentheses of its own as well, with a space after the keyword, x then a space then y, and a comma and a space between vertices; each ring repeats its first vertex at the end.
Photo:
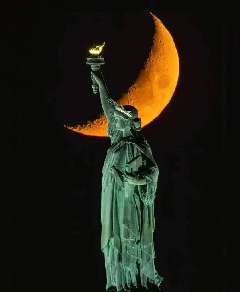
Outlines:
POLYGON ((154 265, 154 205, 158 166, 145 138, 122 137, 112 115, 108 122, 112 146, 103 166, 101 194, 101 249, 105 256, 106 290, 129 291, 132 286, 160 286, 163 278, 154 265), (141 154, 144 166, 139 178, 147 184, 132 187, 126 195, 126 163, 141 154))

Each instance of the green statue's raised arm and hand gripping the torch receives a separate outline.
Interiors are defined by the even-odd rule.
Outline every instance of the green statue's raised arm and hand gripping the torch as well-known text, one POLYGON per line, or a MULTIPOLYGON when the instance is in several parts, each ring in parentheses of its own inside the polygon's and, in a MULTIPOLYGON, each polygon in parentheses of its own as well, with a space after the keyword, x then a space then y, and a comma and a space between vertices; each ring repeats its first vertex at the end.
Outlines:
POLYGON ((104 114, 106 115, 109 121, 110 117, 112 116, 115 110, 115 106, 114 106, 115 101, 112 100, 111 98, 111 95, 107 89, 101 70, 97 72, 91 71, 91 78, 95 78, 99 86, 99 93, 101 97, 102 108, 103 108, 104 114))

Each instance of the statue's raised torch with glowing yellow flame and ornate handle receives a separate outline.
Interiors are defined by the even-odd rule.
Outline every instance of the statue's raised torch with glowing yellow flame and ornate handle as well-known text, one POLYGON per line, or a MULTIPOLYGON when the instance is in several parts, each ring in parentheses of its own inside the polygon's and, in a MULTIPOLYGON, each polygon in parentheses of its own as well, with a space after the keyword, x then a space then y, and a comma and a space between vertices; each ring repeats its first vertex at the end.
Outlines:
MULTIPOLYGON (((105 41, 103 42, 102 45, 98 45, 98 46, 93 46, 92 48, 90 48, 88 51, 92 54, 91 56, 87 56, 87 65, 91 66, 92 71, 97 72, 100 68, 101 65, 104 65, 104 56, 99 55, 99 53, 101 53, 102 48, 105 46, 105 41)), ((93 76, 92 78, 92 90, 94 93, 97 93, 97 89, 98 89, 98 84, 93 76)))

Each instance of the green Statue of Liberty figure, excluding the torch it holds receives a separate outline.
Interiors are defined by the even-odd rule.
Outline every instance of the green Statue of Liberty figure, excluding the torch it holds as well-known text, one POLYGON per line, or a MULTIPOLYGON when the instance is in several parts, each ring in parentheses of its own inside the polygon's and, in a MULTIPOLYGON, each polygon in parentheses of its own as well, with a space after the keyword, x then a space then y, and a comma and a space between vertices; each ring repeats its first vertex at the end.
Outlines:
MULTIPOLYGON (((108 119, 111 147, 103 166, 101 250, 105 257, 106 291, 157 286, 163 280, 154 265, 154 199, 158 166, 143 137, 138 111, 119 106, 110 96, 101 71, 91 71, 108 119)), ((159 288, 160 289, 160 288, 159 288)))

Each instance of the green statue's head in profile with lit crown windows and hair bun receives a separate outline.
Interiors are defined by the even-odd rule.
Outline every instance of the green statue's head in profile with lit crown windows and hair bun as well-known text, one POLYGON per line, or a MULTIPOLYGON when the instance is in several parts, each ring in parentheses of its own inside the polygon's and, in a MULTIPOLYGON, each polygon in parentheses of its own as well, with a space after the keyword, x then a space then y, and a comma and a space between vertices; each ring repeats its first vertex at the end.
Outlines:
POLYGON ((122 107, 115 107, 113 112, 115 116, 115 125, 119 131, 124 131, 129 128, 134 136, 135 131, 141 130, 141 119, 138 117, 136 107, 132 105, 124 105, 122 107))

